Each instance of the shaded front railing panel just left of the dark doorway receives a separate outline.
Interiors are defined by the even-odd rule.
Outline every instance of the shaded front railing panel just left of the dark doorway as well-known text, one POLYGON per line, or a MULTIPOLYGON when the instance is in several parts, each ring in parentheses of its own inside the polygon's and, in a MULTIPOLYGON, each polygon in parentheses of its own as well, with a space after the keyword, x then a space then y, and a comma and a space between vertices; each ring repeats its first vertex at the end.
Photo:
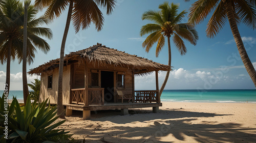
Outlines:
POLYGON ((88 88, 89 105, 104 105, 104 88, 88 88))

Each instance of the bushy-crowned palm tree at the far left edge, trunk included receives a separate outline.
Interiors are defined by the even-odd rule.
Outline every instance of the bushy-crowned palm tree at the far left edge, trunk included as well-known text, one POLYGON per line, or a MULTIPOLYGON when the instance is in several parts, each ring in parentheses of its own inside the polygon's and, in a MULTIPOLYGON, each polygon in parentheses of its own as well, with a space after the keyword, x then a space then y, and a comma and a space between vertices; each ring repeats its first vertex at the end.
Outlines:
MULTIPOLYGON (((28 39, 27 39, 27 63, 33 63, 36 47, 47 53, 50 46, 46 40, 40 38, 44 36, 52 39, 52 31, 49 28, 39 27, 47 24, 48 20, 41 16, 35 18, 37 10, 33 6, 28 7, 28 39)), ((7 63, 6 83, 8 94, 10 90, 10 63, 11 60, 18 59, 18 63, 23 58, 23 27, 24 27, 24 7, 18 0, 4 0, 0 3, 0 62, 7 63)))

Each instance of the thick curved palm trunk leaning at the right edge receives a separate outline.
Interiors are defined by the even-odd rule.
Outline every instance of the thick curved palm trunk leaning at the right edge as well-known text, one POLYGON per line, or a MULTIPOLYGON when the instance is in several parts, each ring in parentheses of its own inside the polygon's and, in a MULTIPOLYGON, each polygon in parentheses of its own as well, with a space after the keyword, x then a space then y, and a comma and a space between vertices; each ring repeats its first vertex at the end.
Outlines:
POLYGON ((245 69, 247 70, 248 74, 250 75, 251 80, 253 81, 254 86, 256 88, 256 71, 255 71, 253 65, 251 64, 249 56, 247 55, 247 52, 244 47, 244 43, 243 43, 240 33, 238 31, 238 25, 237 25, 236 19, 234 18, 234 14, 233 14, 232 3, 230 1, 227 1, 225 6, 226 6, 226 13, 227 13, 228 21, 230 24, 230 28, 231 28, 231 31, 232 31, 232 34, 234 37, 234 41, 236 41, 238 51, 239 51, 241 59, 244 63, 245 69))

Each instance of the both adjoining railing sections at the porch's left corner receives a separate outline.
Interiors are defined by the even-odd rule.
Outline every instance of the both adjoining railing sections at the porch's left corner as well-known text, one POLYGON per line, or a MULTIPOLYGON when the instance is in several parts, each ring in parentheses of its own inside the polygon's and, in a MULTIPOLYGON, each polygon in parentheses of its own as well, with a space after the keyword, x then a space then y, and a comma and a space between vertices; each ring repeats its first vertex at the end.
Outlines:
MULTIPOLYGON (((71 89, 71 103, 84 105, 86 103, 84 91, 84 88, 71 89)), ((89 105, 104 105, 104 89, 88 88, 88 101, 89 105)))

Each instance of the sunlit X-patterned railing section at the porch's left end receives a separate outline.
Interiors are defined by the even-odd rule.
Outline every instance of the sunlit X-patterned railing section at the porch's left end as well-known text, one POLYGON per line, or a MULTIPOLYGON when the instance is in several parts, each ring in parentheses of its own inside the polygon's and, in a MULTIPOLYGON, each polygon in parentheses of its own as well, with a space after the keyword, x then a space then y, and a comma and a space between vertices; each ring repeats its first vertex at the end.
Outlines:
POLYGON ((71 102, 74 104, 84 104, 84 88, 71 90, 71 102))

